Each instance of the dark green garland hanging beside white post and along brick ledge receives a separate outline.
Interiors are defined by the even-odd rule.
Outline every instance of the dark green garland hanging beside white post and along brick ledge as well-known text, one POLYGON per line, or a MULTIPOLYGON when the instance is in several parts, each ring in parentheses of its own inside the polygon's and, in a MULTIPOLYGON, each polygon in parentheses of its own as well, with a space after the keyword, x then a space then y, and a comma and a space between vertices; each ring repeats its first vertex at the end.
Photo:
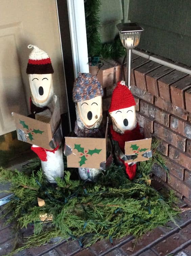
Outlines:
POLYGON ((84 0, 88 56, 99 56, 103 59, 116 59, 125 56, 126 49, 119 36, 113 42, 101 43, 100 6, 100 0, 84 0))

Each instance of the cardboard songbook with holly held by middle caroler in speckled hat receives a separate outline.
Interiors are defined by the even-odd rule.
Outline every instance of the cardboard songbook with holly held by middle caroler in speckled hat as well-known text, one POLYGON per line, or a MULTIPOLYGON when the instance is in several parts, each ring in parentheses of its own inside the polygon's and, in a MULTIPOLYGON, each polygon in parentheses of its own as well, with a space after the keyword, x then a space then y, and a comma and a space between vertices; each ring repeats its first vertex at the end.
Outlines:
POLYGON ((100 168, 100 163, 106 161, 107 133, 108 119, 105 138, 65 137, 67 167, 100 168))

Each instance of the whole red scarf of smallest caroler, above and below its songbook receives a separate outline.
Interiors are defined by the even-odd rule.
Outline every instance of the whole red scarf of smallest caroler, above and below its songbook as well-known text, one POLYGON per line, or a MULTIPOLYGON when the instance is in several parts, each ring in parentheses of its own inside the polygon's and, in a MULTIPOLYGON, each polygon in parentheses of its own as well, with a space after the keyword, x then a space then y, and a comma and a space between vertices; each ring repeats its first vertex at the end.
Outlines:
MULTIPOLYGON (((125 147, 125 141, 131 141, 131 140, 140 140, 143 139, 143 135, 140 132, 139 124, 137 123, 136 127, 132 131, 126 131, 124 134, 117 133, 113 130, 113 126, 110 126, 110 133, 112 136, 112 139, 115 141, 118 141, 120 149, 123 153, 125 153, 124 147, 125 147)), ((127 175, 129 176, 129 179, 132 180, 135 177, 136 174, 136 164, 128 165, 128 163, 125 163, 124 160, 121 159, 121 161, 125 165, 125 170, 127 175)))

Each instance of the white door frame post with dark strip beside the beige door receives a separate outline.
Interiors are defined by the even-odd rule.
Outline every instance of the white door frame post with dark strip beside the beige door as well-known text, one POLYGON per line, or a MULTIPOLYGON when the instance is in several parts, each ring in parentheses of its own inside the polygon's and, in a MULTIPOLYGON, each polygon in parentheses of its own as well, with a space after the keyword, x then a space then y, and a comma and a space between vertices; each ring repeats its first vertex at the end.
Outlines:
POLYGON ((84 0, 56 0, 63 66, 66 79, 69 130, 76 121, 72 88, 78 73, 88 73, 88 51, 84 0))

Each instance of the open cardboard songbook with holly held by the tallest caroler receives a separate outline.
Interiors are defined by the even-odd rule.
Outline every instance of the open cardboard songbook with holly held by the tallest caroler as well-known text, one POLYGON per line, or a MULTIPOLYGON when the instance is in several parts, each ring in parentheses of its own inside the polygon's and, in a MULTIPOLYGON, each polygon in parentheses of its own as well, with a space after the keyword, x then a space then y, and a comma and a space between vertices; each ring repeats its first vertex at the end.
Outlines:
MULTIPOLYGON (((45 123, 27 116, 12 113, 17 128, 18 140, 28 142, 47 150, 52 150, 49 143, 60 122, 60 107, 57 99, 49 123, 45 123)), ((51 144, 52 145, 52 144, 51 144)), ((56 147, 56 146, 55 146, 56 147)))

